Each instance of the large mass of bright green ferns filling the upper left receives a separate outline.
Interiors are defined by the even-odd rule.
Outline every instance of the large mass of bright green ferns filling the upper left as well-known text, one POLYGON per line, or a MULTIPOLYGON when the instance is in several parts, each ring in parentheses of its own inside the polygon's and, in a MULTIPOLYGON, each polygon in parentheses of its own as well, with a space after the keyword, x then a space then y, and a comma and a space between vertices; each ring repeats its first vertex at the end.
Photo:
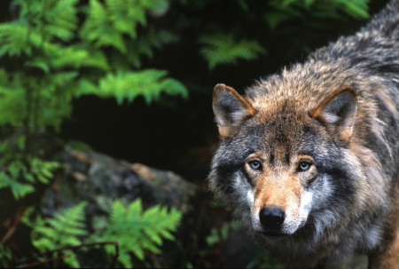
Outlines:
MULTIPOLYGON (((0 126, 23 127, 24 148, 3 146, 8 154, 0 173, 0 188, 11 187, 15 198, 31 193, 37 178, 48 183, 54 162, 41 161, 32 140, 48 127, 59 130, 71 112, 71 100, 84 94, 113 97, 122 103, 138 95, 147 102, 160 92, 187 97, 184 84, 167 77, 168 71, 135 70, 140 56, 176 38, 165 30, 148 30, 146 13, 158 11, 164 0, 15 0, 19 17, 0 24, 0 56, 20 63, 16 69, 0 68, 0 126), (78 19, 78 14, 85 20, 78 19), (108 53, 105 53, 108 51, 108 53), (10 113, 12 111, 13 113, 10 113), (25 180, 22 180, 24 178, 25 180), (47 179, 46 179, 47 178, 47 179)), ((4 160, 4 157, 3 157, 4 160)))

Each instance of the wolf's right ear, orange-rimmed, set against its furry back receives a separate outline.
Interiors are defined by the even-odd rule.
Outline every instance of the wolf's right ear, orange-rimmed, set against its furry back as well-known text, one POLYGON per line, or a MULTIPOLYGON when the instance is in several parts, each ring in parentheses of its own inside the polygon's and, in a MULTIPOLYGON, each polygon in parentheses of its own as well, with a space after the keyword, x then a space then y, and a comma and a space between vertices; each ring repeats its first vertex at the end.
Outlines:
POLYGON ((356 122, 357 94, 351 88, 332 92, 310 116, 324 124, 333 138, 348 143, 356 122))

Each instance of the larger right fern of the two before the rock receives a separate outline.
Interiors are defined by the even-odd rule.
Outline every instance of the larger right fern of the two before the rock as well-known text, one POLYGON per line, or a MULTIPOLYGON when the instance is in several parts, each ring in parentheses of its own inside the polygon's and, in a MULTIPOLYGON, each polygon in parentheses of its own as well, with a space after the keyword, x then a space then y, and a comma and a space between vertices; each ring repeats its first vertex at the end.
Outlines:
MULTIPOLYGON (((92 240, 118 241, 120 247, 118 260, 125 268, 131 268, 133 264, 129 253, 140 260, 145 259, 145 249, 160 253, 158 247, 162 243, 162 238, 174 239, 171 232, 176 231, 180 218, 179 211, 171 209, 168 212, 159 205, 143 212, 140 199, 130 203, 128 207, 117 200, 113 202, 109 224, 104 230, 95 233, 92 240)), ((106 248, 106 252, 114 255, 111 246, 106 248)))

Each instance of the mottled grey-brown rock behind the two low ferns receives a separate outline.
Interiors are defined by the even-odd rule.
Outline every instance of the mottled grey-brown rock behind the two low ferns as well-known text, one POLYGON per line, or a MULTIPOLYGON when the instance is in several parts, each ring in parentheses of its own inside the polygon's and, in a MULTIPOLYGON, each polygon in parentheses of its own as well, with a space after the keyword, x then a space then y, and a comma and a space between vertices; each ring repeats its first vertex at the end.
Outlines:
MULTIPOLYGON (((93 219, 104 219, 108 215, 115 199, 129 203, 140 198, 144 209, 162 204, 183 213, 176 234, 176 240, 183 246, 194 236, 187 232, 192 231, 187 225, 195 223, 197 218, 197 212, 193 209, 199 202, 200 188, 175 173, 69 146, 59 154, 58 161, 63 164, 64 170, 43 195, 41 210, 45 215, 51 216, 58 210, 86 201, 90 226, 97 223, 93 219)), ((91 229, 94 228, 91 226, 91 229)), ((168 246, 162 249, 165 258, 156 257, 156 262, 178 266, 176 263, 180 261, 182 249, 170 241, 164 245, 168 246)))

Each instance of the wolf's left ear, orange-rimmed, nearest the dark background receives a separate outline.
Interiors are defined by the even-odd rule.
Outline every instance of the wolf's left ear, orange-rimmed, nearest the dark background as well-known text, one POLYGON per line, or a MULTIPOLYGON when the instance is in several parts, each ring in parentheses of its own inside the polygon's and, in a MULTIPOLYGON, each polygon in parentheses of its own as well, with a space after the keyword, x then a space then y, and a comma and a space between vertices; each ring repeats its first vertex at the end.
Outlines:
POLYGON ((214 88, 212 107, 221 138, 231 138, 239 126, 256 114, 254 107, 233 88, 217 84, 214 88))

